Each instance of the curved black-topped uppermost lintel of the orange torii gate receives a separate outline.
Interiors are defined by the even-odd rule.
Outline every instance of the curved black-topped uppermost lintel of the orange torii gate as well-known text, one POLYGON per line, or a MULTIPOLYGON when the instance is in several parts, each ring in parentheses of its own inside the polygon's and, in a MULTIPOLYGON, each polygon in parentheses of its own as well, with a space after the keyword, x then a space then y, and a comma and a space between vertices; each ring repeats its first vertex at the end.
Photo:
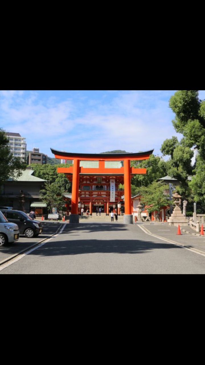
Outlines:
POLYGON ((145 152, 136 152, 136 153, 71 153, 71 152, 65 152, 65 151, 58 151, 51 148, 51 152, 55 155, 55 158, 66 158, 67 160, 74 160, 77 159, 88 159, 88 160, 114 160, 115 158, 117 160, 124 160, 128 158, 129 160, 135 160, 137 158, 143 157, 143 156, 149 156, 153 153, 153 150, 145 151, 145 152), (58 156, 58 157, 57 157, 58 156))

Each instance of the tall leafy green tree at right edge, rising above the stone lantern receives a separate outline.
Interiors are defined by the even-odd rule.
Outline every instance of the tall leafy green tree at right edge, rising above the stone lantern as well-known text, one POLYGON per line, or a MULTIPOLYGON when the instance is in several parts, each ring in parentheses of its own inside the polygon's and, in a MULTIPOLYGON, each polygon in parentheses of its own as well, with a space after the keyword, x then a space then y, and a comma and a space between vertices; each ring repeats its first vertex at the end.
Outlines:
MULTIPOLYGON (((202 199, 203 167, 205 163, 205 101, 198 97, 198 90, 179 90, 171 96, 169 107, 175 114, 172 121, 175 131, 181 133, 183 138, 180 142, 176 137, 163 142, 161 151, 163 155, 170 155, 168 161, 168 175, 180 181, 178 192, 182 199, 193 201, 202 199), (193 151, 197 148, 200 161, 197 166, 192 166, 193 151), (193 175, 193 168, 196 176, 190 183, 189 175, 193 175), (193 190, 194 189, 194 190, 193 190)), ((197 162, 196 162, 197 164, 197 162)))

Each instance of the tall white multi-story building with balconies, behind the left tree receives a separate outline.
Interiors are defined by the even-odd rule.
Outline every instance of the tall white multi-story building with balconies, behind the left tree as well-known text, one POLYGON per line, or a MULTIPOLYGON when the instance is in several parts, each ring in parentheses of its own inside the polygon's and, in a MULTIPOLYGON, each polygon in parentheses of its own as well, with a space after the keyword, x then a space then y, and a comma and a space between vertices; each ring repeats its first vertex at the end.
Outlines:
POLYGON ((20 157, 26 162, 26 138, 21 137, 19 133, 6 132, 9 138, 9 147, 14 157, 20 157))

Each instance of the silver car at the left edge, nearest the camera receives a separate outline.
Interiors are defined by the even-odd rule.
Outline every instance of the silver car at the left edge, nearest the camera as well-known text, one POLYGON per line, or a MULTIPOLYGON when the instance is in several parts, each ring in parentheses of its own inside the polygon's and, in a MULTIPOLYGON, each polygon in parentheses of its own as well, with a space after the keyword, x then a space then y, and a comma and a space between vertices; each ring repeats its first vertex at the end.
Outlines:
POLYGON ((0 211, 0 246, 8 242, 16 242, 19 239, 19 227, 16 223, 10 223, 0 211))

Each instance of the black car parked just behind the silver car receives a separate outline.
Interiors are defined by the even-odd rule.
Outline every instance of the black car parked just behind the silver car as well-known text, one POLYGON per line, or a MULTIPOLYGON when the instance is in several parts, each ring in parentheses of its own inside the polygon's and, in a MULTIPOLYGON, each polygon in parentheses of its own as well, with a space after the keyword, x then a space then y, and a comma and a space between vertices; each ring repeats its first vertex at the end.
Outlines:
POLYGON ((9 222, 18 225, 20 234, 32 238, 42 233, 42 223, 38 222, 38 220, 32 220, 26 213, 13 209, 0 208, 0 210, 9 222))

